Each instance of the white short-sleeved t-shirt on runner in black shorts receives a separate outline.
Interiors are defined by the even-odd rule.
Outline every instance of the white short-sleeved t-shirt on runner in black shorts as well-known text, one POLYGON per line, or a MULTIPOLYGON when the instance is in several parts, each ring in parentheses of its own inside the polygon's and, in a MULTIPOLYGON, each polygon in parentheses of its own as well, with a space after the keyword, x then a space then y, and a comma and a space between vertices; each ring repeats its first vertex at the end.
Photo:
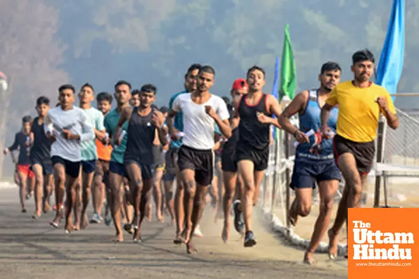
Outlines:
POLYGON ((180 94, 173 102, 172 110, 183 113, 185 146, 207 150, 214 147, 216 122, 205 112, 205 105, 210 105, 221 120, 229 118, 227 105, 219 96, 211 95, 207 103, 193 103, 191 93, 180 94))

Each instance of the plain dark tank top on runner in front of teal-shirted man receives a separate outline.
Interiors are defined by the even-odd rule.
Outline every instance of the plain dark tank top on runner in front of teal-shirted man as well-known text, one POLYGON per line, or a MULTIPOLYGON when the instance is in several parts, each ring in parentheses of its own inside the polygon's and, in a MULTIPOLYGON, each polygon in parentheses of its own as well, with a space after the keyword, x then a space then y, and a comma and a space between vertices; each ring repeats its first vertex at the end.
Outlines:
POLYGON ((140 116, 138 107, 134 107, 128 122, 125 157, 135 158, 140 164, 154 163, 153 141, 156 126, 152 123, 152 114, 150 112, 147 116, 140 116))

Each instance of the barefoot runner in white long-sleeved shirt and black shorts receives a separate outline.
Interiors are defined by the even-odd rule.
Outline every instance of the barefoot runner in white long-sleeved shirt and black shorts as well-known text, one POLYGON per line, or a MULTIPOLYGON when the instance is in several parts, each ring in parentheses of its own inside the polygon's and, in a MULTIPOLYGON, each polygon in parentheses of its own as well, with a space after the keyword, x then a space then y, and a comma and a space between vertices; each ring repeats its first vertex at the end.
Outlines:
POLYGON ((55 203, 57 214, 50 223, 58 227, 61 221, 61 205, 66 190, 66 225, 69 234, 75 228, 71 217, 75 204, 75 186, 80 173, 82 142, 94 140, 94 130, 89 118, 80 107, 73 106, 75 89, 71 84, 58 89, 60 106, 52 108, 45 117, 45 134, 52 140, 51 160, 54 165, 55 203))

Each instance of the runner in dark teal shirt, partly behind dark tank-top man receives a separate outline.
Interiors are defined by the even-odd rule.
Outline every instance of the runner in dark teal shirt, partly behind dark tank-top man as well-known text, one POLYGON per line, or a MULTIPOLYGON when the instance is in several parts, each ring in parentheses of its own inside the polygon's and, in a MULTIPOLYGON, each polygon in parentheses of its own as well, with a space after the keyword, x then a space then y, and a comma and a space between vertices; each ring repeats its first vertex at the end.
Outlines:
MULTIPOLYGON (((131 99, 131 84, 124 80, 120 80, 115 84, 115 100, 117 101, 117 108, 112 110, 105 116, 105 128, 110 139, 117 140, 115 137, 114 130, 117 127, 119 116, 126 107, 129 107, 129 100, 131 99)), ((128 128, 128 122, 124 123, 123 130, 126 131, 128 128)), ((110 139, 108 144, 110 144, 110 139)), ((122 234, 121 227, 121 197, 123 190, 123 179, 126 177, 124 167, 124 152, 126 148, 126 137, 122 137, 122 141, 119 145, 114 146, 112 154, 110 156, 109 163, 109 185, 111 189, 111 200, 110 206, 112 207, 112 219, 114 220, 116 237, 115 241, 124 241, 124 234, 122 234)), ((131 228, 131 226, 130 226, 131 228)), ((129 231, 129 229, 128 229, 129 231)))

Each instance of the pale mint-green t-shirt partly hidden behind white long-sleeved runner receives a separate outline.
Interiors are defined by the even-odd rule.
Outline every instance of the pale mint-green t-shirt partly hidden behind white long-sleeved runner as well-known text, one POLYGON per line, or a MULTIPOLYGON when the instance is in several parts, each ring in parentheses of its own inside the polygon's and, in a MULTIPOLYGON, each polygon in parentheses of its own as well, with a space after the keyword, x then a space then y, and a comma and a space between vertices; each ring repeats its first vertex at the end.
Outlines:
MULTIPOLYGON (((89 124, 96 130, 105 130, 103 126, 103 114, 101 111, 91 107, 86 112, 89 124)), ((82 161, 98 160, 98 152, 95 140, 82 142, 82 161)))

